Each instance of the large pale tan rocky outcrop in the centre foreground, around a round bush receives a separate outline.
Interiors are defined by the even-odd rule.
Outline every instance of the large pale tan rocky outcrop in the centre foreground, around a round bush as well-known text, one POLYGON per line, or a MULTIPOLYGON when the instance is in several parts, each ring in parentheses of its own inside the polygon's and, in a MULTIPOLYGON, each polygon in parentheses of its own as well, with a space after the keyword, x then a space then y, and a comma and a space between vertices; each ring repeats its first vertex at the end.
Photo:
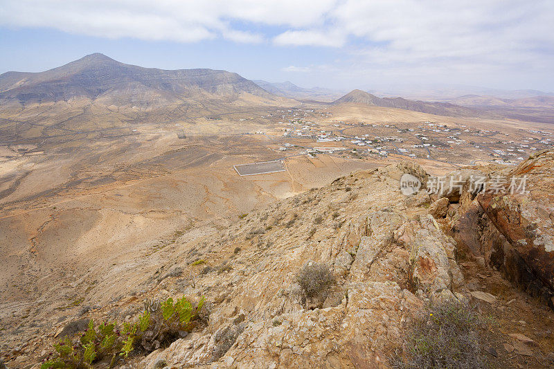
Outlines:
POLYGON ((405 170, 427 177, 405 163, 358 172, 246 217, 242 233, 268 222, 271 230, 242 244, 233 260, 240 267, 197 282, 208 300, 221 301, 208 327, 139 367, 160 359, 179 368, 386 366, 413 314, 429 300, 462 298, 464 284, 456 242, 428 214, 425 199, 406 207, 397 181, 405 170), (296 282, 312 261, 328 265, 336 279, 318 304, 296 282))

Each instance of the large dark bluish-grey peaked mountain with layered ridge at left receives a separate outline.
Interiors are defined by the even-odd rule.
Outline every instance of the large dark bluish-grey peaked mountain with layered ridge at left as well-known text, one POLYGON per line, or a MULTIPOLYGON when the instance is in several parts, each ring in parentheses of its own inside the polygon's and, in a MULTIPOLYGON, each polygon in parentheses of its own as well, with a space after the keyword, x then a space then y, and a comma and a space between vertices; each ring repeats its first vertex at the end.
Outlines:
POLYGON ((73 98, 114 105, 166 105, 183 99, 224 98, 241 94, 274 100, 277 97, 237 73, 212 69, 143 68, 95 53, 40 73, 0 75, 0 100, 55 102, 73 98))

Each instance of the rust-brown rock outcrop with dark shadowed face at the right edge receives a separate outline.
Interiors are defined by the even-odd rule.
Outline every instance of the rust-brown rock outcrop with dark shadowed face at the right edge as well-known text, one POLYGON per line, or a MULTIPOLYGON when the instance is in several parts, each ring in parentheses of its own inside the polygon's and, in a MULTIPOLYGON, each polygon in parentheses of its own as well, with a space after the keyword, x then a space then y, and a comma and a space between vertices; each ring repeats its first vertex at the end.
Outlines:
POLYGON ((497 174, 503 179, 504 188, 479 193, 452 229, 460 244, 551 307, 554 307, 553 170, 554 152, 542 152, 511 172, 497 174), (516 186, 510 188, 511 185, 516 186))

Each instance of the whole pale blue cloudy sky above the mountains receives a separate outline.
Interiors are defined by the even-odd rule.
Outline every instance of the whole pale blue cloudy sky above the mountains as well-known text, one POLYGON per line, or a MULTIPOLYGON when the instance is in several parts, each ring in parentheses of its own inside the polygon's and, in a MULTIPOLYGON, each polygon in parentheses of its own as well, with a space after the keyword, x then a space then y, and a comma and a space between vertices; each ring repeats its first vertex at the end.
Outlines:
POLYGON ((0 73, 95 52, 303 87, 554 91, 554 1, 1 0, 0 73))

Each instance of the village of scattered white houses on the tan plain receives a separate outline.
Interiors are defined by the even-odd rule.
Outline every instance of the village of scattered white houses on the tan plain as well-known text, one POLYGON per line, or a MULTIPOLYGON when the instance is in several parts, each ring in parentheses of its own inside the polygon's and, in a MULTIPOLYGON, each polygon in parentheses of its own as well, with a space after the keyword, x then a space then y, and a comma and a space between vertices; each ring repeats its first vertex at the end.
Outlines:
POLYGON ((278 136, 284 156, 327 153, 346 159, 378 159, 406 156, 452 165, 474 165, 476 161, 517 165, 533 152, 552 147, 554 133, 539 129, 499 130, 468 124, 422 121, 413 123, 366 123, 335 120, 328 111, 288 109, 262 118, 278 119, 278 136), (278 115, 280 113, 280 115, 278 115))

